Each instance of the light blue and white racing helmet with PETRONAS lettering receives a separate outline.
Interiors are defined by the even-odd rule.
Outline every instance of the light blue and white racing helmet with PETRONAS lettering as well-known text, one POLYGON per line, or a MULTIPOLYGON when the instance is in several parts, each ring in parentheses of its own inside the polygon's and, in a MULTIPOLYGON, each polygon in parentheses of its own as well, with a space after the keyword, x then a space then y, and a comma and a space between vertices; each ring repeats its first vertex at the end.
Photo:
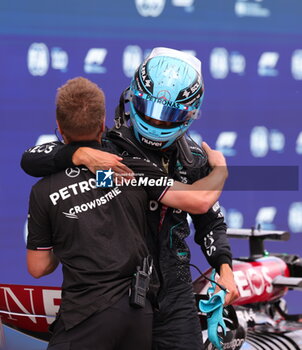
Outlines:
POLYGON ((145 147, 170 147, 198 118, 204 95, 201 62, 158 47, 137 68, 129 90, 130 120, 145 147))

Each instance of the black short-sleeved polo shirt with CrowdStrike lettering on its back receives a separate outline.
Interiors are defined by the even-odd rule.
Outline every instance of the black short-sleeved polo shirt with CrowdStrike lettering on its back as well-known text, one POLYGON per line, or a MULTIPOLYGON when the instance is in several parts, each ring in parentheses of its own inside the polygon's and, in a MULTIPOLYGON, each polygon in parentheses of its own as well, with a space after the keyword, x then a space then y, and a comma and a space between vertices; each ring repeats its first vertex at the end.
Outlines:
MULTIPOLYGON (((125 163, 149 178, 164 176, 145 160, 125 163)), ((74 167, 43 178, 30 194, 27 249, 53 249, 62 263, 60 312, 66 329, 128 292, 136 266, 148 255, 148 199, 158 200, 167 189, 95 184, 94 174, 74 167)))

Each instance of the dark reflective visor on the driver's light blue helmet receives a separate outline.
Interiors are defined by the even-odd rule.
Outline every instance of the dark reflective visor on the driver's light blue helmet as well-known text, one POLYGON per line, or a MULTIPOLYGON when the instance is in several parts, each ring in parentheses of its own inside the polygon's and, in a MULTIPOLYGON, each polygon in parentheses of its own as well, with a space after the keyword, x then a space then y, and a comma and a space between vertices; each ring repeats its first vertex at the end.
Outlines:
POLYGON ((199 109, 196 106, 185 106, 163 98, 156 98, 137 90, 134 90, 133 93, 133 106, 142 116, 176 123, 183 123, 186 120, 198 117, 199 109))

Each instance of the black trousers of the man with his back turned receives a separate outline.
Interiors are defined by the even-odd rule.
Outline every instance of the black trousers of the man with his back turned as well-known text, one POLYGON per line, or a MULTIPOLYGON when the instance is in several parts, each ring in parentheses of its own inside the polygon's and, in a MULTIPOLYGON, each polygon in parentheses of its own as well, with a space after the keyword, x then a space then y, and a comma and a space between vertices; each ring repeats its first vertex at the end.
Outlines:
POLYGON ((151 350, 153 312, 129 305, 124 296, 115 305, 97 312, 66 331, 59 318, 48 350, 151 350))

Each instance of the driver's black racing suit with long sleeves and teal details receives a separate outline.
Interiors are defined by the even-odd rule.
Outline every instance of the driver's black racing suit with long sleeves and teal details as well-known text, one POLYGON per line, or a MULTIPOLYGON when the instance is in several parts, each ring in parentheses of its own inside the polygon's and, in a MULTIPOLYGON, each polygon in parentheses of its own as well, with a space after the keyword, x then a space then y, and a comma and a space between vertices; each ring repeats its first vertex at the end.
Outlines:
MULTIPOLYGON (((206 176, 210 167, 204 151, 187 140, 190 162, 178 144, 166 152, 142 147, 131 128, 120 127, 107 132, 102 141, 112 151, 150 159, 175 180, 191 184, 206 176)), ((77 147, 51 143, 43 148, 31 148, 23 154, 21 166, 32 176, 45 176, 72 166, 71 157, 77 147), (48 153, 43 152, 47 149, 48 153), (51 149, 51 150, 50 150, 51 149), (39 153, 40 152, 40 153, 39 153)), ((154 300, 153 349, 200 350, 202 335, 190 273, 190 251, 185 242, 190 234, 187 213, 167 208, 157 202, 149 203, 148 246, 154 257, 160 289, 154 300)), ((206 214, 191 215, 195 228, 195 242, 209 264, 219 271, 222 264, 231 265, 231 250, 226 236, 226 224, 219 205, 206 214)))

